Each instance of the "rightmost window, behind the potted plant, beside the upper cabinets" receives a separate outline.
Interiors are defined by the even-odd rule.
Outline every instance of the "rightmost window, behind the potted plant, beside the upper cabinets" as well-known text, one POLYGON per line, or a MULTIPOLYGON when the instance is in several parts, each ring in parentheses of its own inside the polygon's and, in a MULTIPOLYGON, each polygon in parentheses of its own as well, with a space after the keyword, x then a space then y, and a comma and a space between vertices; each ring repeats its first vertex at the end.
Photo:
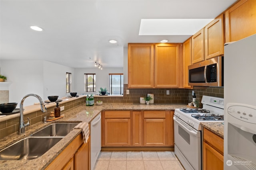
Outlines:
POLYGON ((110 94, 123 94, 124 92, 124 75, 109 74, 109 91, 110 94))

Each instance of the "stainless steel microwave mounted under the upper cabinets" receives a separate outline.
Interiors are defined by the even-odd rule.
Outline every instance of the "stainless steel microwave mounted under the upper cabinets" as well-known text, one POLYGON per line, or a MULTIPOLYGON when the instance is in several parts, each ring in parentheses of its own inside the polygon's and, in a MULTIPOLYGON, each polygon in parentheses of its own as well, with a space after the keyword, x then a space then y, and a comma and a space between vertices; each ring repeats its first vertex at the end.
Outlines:
POLYGON ((188 85, 224 86, 224 57, 214 57, 188 66, 188 85))

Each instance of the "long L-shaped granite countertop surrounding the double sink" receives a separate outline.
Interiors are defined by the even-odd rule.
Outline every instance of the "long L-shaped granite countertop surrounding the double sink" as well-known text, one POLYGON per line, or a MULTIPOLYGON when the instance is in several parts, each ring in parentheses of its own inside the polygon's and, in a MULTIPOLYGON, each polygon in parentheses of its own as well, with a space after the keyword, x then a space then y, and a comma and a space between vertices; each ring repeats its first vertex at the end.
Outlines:
MULTIPOLYGON (((17 141, 30 136, 32 133, 52 123, 90 123, 102 110, 174 110, 184 108, 185 104, 130 104, 130 103, 103 103, 101 106, 79 105, 66 111, 64 117, 48 123, 36 123, 26 128, 22 135, 13 133, 0 139, 0 150, 16 143, 17 141)), ((0 160, 0 170, 19 169, 44 169, 46 168, 79 134, 81 129, 74 129, 56 145, 49 149, 39 158, 33 160, 0 160)))

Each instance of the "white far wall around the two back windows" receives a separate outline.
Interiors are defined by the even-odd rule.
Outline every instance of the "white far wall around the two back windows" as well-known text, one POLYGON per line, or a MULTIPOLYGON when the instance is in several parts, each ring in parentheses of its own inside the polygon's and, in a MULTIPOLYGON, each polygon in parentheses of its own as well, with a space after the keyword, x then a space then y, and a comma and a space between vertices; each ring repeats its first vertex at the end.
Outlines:
MULTIPOLYGON (((78 94, 87 94, 84 92, 84 74, 96 74, 96 94, 98 94, 100 87, 107 88, 109 92, 109 73, 123 73, 123 68, 75 68, 75 89, 78 94)), ((91 93, 88 93, 91 94, 91 93)), ((95 94, 95 93, 92 93, 95 94)))

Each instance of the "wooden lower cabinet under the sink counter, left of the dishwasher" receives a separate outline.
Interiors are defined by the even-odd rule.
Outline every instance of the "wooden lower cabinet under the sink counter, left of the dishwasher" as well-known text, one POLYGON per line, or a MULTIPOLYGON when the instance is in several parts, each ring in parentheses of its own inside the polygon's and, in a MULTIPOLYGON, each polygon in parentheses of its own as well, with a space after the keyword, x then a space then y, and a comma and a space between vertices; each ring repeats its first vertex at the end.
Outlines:
POLYGON ((84 143, 82 133, 78 135, 45 169, 89 170, 90 137, 84 143))

